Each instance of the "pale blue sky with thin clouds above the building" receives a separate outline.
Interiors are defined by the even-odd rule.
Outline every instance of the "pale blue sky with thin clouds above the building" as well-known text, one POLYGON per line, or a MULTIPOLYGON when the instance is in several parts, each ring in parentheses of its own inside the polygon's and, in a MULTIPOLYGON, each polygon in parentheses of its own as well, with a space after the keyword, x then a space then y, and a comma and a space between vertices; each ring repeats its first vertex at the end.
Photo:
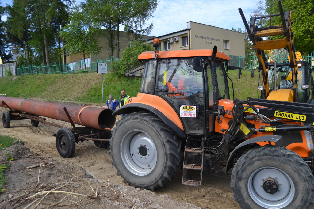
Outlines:
MULTIPOLYGON (((0 0, 1 6, 12 4, 11 0, 0 0)), ((82 0, 77 0, 81 2, 82 0)), ((187 22, 193 21, 220 28, 244 30, 238 8, 242 8, 246 20, 257 8, 254 0, 160 0, 154 18, 147 24, 154 23, 150 35, 160 36, 187 28, 187 22)))

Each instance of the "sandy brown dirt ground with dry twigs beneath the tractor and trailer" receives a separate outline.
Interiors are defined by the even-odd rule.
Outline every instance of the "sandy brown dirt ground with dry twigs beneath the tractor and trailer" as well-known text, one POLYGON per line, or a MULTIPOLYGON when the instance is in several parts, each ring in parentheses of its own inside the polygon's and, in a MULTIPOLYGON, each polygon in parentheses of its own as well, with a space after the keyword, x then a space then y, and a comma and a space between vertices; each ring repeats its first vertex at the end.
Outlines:
MULTIPOLYGON (((5 110, 0 107, 1 121, 5 110)), ((47 121, 70 128, 70 124, 63 121, 47 121)), ((192 187, 181 184, 180 170, 168 185, 153 192, 140 190, 123 183, 122 177, 116 175, 116 169, 111 165, 109 149, 95 147, 92 141, 77 143, 73 157, 62 158, 52 136, 57 130, 42 123, 38 127, 31 126, 30 120, 11 121, 11 127, 7 129, 1 124, 0 134, 21 139, 25 146, 14 145, 0 153, 1 163, 6 161, 4 153, 11 152, 15 157, 8 163, 8 184, 0 194, 0 207, 24 208, 38 199, 37 202, 41 203, 37 208, 52 206, 48 204, 55 204, 55 208, 69 204, 75 208, 240 208, 230 189, 230 174, 204 172, 203 185, 192 187), (40 163, 46 166, 26 168, 40 163), (30 196, 44 190, 62 190, 88 197, 84 199, 84 196, 59 192, 50 192, 43 199, 43 195, 30 196), (92 199, 96 190, 97 199, 92 199), (26 197, 29 197, 27 201, 26 197)), ((37 202, 29 208, 35 208, 37 202)))

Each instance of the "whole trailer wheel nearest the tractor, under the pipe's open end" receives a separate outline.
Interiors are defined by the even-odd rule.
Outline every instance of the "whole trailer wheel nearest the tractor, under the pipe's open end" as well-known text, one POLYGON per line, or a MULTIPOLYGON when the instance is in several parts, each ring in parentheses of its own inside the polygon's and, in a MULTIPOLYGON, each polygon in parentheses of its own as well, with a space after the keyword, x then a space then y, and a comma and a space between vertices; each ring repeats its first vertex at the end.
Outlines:
POLYGON ((75 139, 68 128, 60 128, 56 134, 56 146, 58 153, 63 158, 70 158, 75 151, 75 139))

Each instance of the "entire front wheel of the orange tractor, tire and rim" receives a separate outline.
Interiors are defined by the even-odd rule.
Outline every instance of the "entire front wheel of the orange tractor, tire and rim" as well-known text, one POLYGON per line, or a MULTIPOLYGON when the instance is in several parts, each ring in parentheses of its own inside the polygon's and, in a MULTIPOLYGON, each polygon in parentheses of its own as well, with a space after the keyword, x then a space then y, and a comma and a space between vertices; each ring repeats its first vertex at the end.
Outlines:
POLYGON ((309 166, 285 147, 243 154, 232 170, 231 189, 241 208, 308 208, 314 201, 309 166))

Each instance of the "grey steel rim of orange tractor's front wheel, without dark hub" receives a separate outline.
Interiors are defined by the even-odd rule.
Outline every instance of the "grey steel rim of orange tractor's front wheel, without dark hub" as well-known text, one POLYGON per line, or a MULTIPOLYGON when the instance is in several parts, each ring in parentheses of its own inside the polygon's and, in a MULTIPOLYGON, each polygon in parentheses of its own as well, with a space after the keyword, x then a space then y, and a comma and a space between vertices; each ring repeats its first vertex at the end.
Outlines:
POLYGON ((295 186, 290 176, 275 167, 262 167, 249 177, 247 188, 252 200, 268 209, 284 208, 290 204, 295 194, 295 186), (274 178, 279 183, 279 190, 274 194, 265 192, 262 185, 265 179, 274 178))

